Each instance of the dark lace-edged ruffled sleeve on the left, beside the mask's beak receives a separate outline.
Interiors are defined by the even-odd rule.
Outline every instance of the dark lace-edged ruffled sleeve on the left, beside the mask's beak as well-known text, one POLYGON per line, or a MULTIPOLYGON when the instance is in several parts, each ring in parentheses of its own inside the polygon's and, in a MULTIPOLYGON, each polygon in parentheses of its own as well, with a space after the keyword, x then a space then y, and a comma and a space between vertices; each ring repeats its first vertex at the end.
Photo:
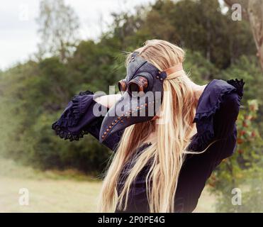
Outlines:
MULTIPOLYGON (((101 95, 96 94, 96 97, 98 96, 101 95)), ((70 141, 79 140, 88 133, 99 140, 99 131, 104 116, 94 114, 94 107, 96 107, 98 113, 106 113, 108 109, 98 104, 94 99, 94 93, 90 91, 80 92, 75 95, 67 104, 60 118, 52 123, 52 129, 55 133, 60 138, 70 141)), ((111 141, 105 140, 103 144, 114 150, 120 139, 121 134, 116 133, 111 141)))

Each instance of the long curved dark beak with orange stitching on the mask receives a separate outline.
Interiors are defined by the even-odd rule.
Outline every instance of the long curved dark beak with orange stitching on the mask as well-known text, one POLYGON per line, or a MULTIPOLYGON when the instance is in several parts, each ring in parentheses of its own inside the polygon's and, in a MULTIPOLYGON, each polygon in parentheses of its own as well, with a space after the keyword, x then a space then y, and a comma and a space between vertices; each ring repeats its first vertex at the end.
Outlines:
POLYGON ((135 123, 150 121, 155 116, 153 97, 138 99, 125 92, 121 99, 109 109, 101 124, 99 141, 110 140, 111 135, 135 123))

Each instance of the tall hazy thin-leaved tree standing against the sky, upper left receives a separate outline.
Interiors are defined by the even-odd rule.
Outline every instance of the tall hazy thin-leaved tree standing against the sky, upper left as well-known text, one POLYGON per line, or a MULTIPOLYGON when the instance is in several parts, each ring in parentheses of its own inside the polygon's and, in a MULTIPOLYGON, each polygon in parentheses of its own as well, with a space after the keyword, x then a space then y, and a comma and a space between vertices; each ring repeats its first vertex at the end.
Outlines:
POLYGON ((37 22, 41 37, 38 58, 50 54, 65 61, 77 44, 79 18, 74 10, 64 0, 42 0, 37 22))

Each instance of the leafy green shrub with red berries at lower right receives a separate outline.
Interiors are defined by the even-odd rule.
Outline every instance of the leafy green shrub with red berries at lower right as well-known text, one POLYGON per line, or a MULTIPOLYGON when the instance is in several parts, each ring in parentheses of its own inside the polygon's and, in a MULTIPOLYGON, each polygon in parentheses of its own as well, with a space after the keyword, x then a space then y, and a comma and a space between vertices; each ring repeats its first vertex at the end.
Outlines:
POLYGON ((218 194, 219 212, 262 211, 262 148, 263 142, 254 120, 257 118, 257 100, 247 101, 237 119, 237 147, 233 157, 223 160, 213 172, 209 184, 218 194), (242 192, 242 205, 232 204, 233 189, 242 192))

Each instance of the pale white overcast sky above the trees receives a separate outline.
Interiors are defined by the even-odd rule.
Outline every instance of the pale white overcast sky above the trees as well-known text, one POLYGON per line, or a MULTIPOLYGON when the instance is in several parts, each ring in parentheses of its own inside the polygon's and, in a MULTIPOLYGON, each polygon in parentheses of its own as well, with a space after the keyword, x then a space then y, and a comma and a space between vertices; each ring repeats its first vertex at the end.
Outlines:
MULTIPOLYGON (((131 11, 155 0, 65 0, 79 16, 83 39, 98 38, 112 21, 111 12, 131 11), (101 23, 101 18, 103 23, 101 23)), ((37 50, 40 0, 9 0, 0 6, 0 69, 23 62, 37 50)))

